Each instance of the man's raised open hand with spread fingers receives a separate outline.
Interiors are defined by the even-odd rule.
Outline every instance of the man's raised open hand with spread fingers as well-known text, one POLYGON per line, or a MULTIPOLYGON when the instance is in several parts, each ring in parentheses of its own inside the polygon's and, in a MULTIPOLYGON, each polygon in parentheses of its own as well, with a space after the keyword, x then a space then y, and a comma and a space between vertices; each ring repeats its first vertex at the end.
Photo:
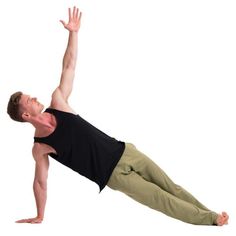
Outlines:
POLYGON ((78 32, 80 28, 82 12, 79 13, 79 8, 74 7, 71 16, 71 9, 69 8, 69 22, 66 24, 65 21, 60 20, 63 26, 70 32, 78 32))

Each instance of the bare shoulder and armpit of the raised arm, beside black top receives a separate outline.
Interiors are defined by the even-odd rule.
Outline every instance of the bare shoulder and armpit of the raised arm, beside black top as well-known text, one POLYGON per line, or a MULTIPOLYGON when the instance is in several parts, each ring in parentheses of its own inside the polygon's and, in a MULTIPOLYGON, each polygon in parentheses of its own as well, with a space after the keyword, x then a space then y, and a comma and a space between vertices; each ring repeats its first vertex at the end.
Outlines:
POLYGON ((50 108, 76 114, 76 112, 69 106, 68 101, 64 99, 59 88, 56 88, 52 94, 50 108))

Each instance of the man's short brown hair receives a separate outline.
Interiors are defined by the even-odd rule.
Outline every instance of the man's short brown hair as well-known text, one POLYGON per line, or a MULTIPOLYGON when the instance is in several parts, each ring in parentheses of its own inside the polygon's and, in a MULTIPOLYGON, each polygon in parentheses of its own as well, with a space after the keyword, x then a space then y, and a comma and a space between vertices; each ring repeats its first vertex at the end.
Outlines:
POLYGON ((26 122, 22 118, 22 112, 19 104, 22 94, 22 92, 16 92, 11 95, 7 106, 7 113, 15 121, 26 122))

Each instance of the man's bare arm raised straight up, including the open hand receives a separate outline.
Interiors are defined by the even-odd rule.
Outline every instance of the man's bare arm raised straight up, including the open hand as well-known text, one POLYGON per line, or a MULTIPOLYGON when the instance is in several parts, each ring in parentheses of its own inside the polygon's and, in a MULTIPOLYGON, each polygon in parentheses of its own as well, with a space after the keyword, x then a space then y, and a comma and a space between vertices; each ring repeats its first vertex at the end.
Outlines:
POLYGON ((79 9, 76 7, 73 8, 73 12, 71 12, 70 8, 68 11, 69 11, 68 23, 65 23, 63 20, 60 20, 65 29, 69 31, 69 39, 63 57, 60 84, 53 93, 53 96, 55 97, 57 102, 62 99, 66 103, 68 101, 68 97, 70 96, 73 87, 75 67, 77 61, 78 31, 80 29, 80 22, 82 17, 82 13, 79 12, 79 9))

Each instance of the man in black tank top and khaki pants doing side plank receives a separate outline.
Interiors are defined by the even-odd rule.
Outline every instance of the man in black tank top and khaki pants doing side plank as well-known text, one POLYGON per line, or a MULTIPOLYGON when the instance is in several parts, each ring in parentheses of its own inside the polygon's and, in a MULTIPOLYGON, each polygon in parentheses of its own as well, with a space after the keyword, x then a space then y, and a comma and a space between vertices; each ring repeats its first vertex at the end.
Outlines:
POLYGON ((33 190, 37 206, 35 218, 18 223, 41 223, 47 198, 48 155, 97 183, 100 191, 108 185, 136 201, 184 222, 199 225, 227 224, 225 212, 217 214, 173 181, 131 143, 117 141, 103 133, 68 104, 72 91, 77 37, 82 13, 69 8, 69 22, 61 21, 69 31, 59 86, 52 94, 50 107, 21 92, 8 103, 8 114, 16 121, 35 128, 32 154, 35 160, 33 190))

